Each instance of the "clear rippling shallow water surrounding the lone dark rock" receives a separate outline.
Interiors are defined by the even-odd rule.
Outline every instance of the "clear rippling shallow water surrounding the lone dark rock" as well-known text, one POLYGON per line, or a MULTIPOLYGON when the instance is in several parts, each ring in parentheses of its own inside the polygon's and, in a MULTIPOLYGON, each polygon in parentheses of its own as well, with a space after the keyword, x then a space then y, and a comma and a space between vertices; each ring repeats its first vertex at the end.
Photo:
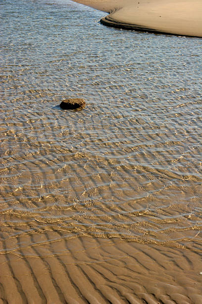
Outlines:
POLYGON ((82 235, 201 251, 202 39, 69 0, 1 13, 1 253, 82 235))

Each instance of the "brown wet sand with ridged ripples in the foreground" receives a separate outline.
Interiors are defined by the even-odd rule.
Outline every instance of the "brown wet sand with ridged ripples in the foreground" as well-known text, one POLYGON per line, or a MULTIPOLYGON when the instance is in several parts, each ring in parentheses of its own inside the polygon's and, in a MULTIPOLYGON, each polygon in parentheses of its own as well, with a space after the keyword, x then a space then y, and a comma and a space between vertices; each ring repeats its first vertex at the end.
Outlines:
POLYGON ((56 237, 48 231, 0 255, 0 303, 202 303, 199 252, 118 238, 50 242, 56 237))

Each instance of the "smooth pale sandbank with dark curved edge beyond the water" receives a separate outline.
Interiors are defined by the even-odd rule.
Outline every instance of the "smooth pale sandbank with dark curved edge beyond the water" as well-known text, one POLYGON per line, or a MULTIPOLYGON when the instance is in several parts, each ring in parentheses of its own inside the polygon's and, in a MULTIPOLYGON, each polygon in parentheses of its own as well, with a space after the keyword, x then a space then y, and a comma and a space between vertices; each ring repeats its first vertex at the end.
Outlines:
POLYGON ((201 0, 76 0, 106 11, 108 26, 202 37, 201 0))

